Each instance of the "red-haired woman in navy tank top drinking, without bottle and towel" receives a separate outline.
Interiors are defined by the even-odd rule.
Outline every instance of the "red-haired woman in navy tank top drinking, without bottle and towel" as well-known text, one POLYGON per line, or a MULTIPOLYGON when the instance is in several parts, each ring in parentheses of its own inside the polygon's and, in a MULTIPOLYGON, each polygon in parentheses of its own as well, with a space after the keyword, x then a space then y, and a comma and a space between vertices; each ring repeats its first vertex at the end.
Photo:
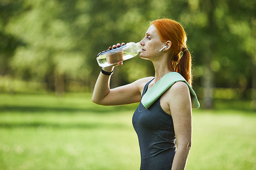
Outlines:
MULTIPOLYGON (((141 102, 145 92, 169 72, 178 72, 191 85, 191 56, 186 39, 185 31, 178 22, 171 19, 152 21, 140 41, 140 58, 152 61, 155 77, 110 89, 114 66, 104 67, 95 84, 92 101, 99 105, 141 102)), ((120 44, 109 49, 117 46, 120 44)), ((122 65, 122 62, 117 65, 122 65)), ((140 103, 135 111, 133 126, 140 145, 140 169, 185 169, 192 133, 191 99, 187 84, 181 81, 174 83, 149 108, 140 103)))

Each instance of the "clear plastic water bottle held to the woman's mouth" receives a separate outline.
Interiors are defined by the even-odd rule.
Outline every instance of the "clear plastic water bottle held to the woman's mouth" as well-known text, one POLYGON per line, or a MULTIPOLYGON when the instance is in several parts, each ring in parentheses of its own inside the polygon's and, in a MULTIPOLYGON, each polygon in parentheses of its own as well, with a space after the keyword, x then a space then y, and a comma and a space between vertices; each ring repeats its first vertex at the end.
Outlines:
POLYGON ((112 50, 106 50, 98 54, 97 62, 101 67, 108 67, 120 61, 128 60, 137 56, 141 52, 141 45, 139 42, 129 42, 125 45, 120 45, 112 50))

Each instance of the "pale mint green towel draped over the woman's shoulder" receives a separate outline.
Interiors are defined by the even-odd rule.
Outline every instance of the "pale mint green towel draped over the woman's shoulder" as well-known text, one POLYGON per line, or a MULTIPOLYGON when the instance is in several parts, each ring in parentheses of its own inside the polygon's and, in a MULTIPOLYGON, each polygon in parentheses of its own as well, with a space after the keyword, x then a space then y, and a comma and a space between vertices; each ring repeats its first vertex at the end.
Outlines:
POLYGON ((178 72, 169 72, 164 75, 153 87, 146 91, 142 97, 141 103, 148 109, 168 88, 170 88, 170 86, 178 81, 183 81, 187 84, 190 91, 192 108, 198 109, 200 103, 198 102, 195 91, 178 72))

